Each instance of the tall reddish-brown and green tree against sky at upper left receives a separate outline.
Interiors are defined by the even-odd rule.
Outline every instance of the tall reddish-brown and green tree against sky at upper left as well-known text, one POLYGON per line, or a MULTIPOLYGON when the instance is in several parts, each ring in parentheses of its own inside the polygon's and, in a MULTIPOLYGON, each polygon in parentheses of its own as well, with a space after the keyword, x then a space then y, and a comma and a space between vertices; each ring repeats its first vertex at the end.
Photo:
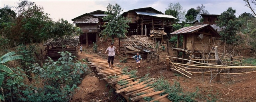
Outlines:
POLYGON ((44 27, 51 18, 43 11, 42 6, 24 0, 18 3, 16 9, 18 11, 17 26, 20 27, 17 35, 22 43, 41 43, 47 39, 44 27))

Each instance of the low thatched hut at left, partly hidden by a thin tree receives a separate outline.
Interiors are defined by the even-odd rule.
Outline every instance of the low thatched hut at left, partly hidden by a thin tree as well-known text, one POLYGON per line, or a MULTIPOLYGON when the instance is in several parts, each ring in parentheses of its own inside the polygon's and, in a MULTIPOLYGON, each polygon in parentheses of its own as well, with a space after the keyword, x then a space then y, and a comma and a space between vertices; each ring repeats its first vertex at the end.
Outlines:
POLYGON ((79 51, 79 36, 63 39, 62 44, 60 39, 49 39, 43 45, 48 57, 61 57, 60 53, 58 53, 61 51, 68 51, 73 56, 76 56, 79 51))

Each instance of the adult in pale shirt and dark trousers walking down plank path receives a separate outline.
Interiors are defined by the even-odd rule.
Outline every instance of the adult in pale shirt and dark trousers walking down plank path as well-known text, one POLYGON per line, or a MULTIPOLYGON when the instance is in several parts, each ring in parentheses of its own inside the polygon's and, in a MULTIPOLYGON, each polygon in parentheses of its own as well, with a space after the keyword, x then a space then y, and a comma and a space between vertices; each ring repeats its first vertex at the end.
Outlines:
POLYGON ((115 50, 116 50, 116 53, 118 53, 116 47, 114 47, 114 43, 110 43, 110 46, 107 48, 105 54, 107 53, 108 51, 108 66, 110 67, 110 60, 111 60, 111 68, 110 69, 113 69, 113 64, 114 64, 114 58, 115 58, 115 50))

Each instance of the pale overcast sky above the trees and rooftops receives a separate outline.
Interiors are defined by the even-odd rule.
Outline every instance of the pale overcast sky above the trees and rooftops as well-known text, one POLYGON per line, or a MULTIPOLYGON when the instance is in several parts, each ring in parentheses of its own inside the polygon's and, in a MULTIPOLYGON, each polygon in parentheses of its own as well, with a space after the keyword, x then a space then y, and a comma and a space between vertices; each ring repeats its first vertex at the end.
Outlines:
MULTIPOLYGON (((93 12, 95 10, 106 11, 108 3, 119 4, 124 11, 133 10, 136 8, 152 7, 158 11, 165 12, 168 5, 179 2, 184 10, 196 8, 203 4, 205 10, 209 14, 221 14, 229 7, 236 10, 236 16, 247 12, 252 13, 248 7, 245 6, 243 0, 30 0, 35 2, 38 6, 43 6, 44 11, 50 14, 55 21, 63 18, 64 20, 73 23, 71 19, 81 16, 82 14, 93 12)), ((0 8, 4 4, 9 6, 17 6, 19 0, 0 0, 0 8)), ((15 10, 15 9, 14 9, 15 10)))

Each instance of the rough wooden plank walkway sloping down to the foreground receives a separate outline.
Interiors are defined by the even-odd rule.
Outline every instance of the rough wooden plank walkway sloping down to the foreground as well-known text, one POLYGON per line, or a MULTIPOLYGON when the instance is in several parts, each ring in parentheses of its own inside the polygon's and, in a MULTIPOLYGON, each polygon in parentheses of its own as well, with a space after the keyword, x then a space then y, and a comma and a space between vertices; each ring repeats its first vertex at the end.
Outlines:
POLYGON ((154 102, 168 96, 165 94, 160 96, 161 91, 155 91, 154 87, 150 87, 149 84, 156 82, 154 78, 142 80, 140 77, 134 77, 133 74, 129 73, 128 68, 113 66, 113 70, 108 66, 106 59, 102 59, 99 56, 89 55, 88 61, 89 66, 95 68, 98 75, 101 75, 101 80, 106 80, 114 89, 116 93, 121 94, 127 102, 135 102, 142 100, 144 97, 152 97, 158 95, 156 99, 151 100, 154 102))

